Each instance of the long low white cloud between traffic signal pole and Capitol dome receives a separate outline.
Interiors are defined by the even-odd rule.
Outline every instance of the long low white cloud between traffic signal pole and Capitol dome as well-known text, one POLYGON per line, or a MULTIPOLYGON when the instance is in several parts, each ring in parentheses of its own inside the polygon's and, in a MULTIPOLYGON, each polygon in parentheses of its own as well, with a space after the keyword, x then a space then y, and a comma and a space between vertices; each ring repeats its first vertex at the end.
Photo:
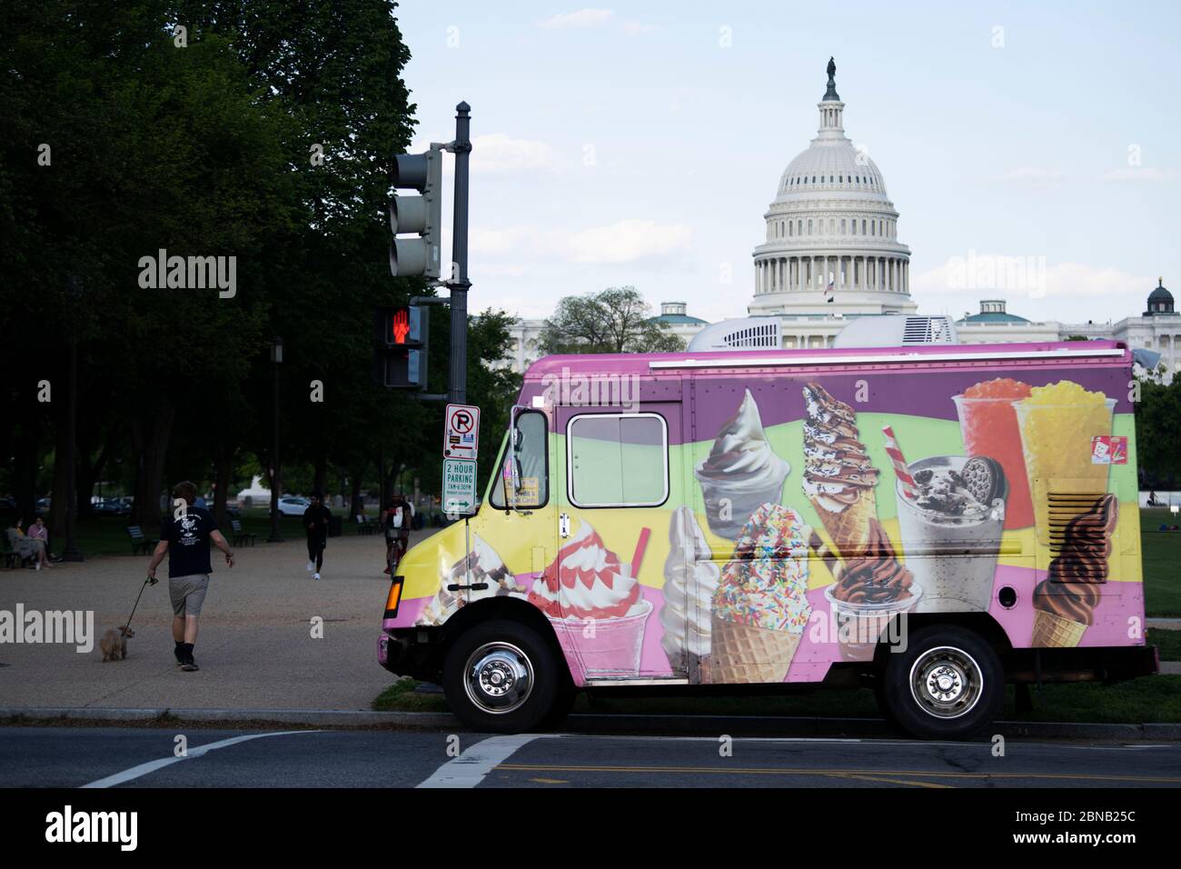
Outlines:
MULTIPOLYGON (((652 220, 620 220, 585 229, 537 226, 474 227, 472 254, 489 257, 559 258, 580 265, 635 262, 689 249, 692 227, 652 220)), ((523 266, 518 266, 523 267, 523 266)))

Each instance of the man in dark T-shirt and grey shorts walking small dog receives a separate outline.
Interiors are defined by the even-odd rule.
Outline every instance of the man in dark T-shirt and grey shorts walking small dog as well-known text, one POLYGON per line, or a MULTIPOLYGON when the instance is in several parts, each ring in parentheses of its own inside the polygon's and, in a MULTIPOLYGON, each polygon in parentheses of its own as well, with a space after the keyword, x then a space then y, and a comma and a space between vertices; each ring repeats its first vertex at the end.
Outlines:
POLYGON ((197 620, 205 602, 209 575, 209 543, 226 555, 226 566, 234 566, 234 552, 217 530, 213 514, 195 506, 197 487, 185 480, 172 489, 175 508, 159 526, 159 543, 148 565, 148 576, 156 578, 156 568, 168 556, 168 596, 172 602, 174 654, 182 670, 200 669, 193 657, 197 642, 197 620), (182 501, 182 504, 177 504, 182 501))

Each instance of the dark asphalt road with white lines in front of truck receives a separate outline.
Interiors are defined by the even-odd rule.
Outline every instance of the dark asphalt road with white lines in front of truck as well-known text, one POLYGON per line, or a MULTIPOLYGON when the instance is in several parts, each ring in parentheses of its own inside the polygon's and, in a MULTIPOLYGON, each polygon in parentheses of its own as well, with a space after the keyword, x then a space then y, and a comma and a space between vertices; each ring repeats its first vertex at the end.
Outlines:
POLYGON ((0 786, 1176 787, 1181 745, 8 727, 0 786), (462 752, 452 757, 455 747, 462 752), (449 754, 451 750, 451 754, 449 754))

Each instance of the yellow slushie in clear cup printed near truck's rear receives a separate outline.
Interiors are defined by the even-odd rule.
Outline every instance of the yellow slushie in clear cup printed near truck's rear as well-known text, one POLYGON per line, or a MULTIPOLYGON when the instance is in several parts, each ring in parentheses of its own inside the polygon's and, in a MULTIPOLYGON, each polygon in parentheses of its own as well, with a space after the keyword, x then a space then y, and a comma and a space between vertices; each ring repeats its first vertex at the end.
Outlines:
MULTIPOLYGON (((1016 402, 1013 408, 1022 430, 1037 526, 1049 533, 1050 499, 1045 494, 1107 491, 1111 466, 1091 462, 1091 439, 1111 434, 1115 398, 1091 393, 1072 381, 1058 381, 1048 387, 1033 387, 1030 396, 1016 402), (1044 486, 1040 498, 1037 497, 1038 480, 1044 486)), ((1056 518, 1069 520, 1061 514, 1056 518)))

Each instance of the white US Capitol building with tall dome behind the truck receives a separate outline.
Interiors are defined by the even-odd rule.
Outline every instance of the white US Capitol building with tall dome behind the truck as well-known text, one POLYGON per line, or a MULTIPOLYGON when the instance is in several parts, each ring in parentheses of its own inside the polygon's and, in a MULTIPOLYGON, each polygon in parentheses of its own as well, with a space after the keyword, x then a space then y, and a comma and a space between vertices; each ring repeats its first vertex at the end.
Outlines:
MULTIPOLYGON (((836 92, 836 64, 828 61, 828 90, 817 104, 820 129, 779 177, 763 215, 766 235, 755 248, 752 317, 779 319, 782 346, 831 346, 850 318, 915 313, 911 299, 911 248, 899 241, 899 213, 881 170, 844 135, 844 103, 836 92)), ((657 319, 683 338, 707 323, 689 316, 684 303, 664 303, 657 319)), ((524 370, 541 320, 518 320, 514 356, 504 364, 524 370)), ((980 312, 955 324, 960 343, 997 344, 1110 338, 1161 354, 1163 380, 1181 371, 1181 314, 1163 280, 1144 312, 1117 323, 1032 322, 1009 313, 1005 300, 980 301, 980 312)))

